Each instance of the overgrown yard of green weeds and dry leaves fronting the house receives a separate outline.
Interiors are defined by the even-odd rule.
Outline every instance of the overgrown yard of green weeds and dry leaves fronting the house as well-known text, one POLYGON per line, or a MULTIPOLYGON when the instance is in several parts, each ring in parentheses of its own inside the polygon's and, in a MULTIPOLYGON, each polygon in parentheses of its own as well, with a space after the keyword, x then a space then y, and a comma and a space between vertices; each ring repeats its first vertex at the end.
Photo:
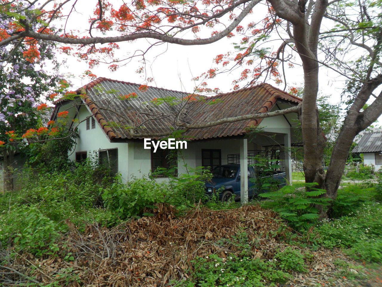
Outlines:
MULTIPOLYGON (((81 252, 88 254, 86 258, 93 256, 94 262, 105 260, 111 256, 110 252, 125 252, 117 251, 115 244, 125 246, 127 243, 120 241, 124 238, 120 234, 127 232, 130 232, 131 248, 137 250, 133 253, 144 254, 139 260, 145 256, 160 258, 164 253, 159 250, 167 250, 168 256, 171 255, 166 259, 168 262, 173 260, 187 267, 181 271, 190 274, 186 280, 173 280, 179 275, 175 271, 167 274, 168 283, 173 280, 170 285, 178 287, 285 284, 295 274, 309 273, 312 261, 317 260, 313 250, 320 247, 340 247, 354 259, 382 261, 382 209, 378 202, 382 177, 379 183, 350 185, 340 190, 333 202, 332 218, 320 221, 315 205, 327 205, 329 200, 320 197, 325 191, 315 189, 315 184, 285 186, 261 194, 262 200, 258 202, 263 208, 277 212, 273 213, 258 205, 238 209, 240 205, 235 202, 206 198, 204 181, 210 174, 201 169, 179 178, 170 177, 165 182, 144 176, 123 184, 118 176, 108 175, 107 168, 90 161, 49 174, 37 174, 29 168, 21 191, 0 196, 0 241, 5 247, 0 252, 7 258, 2 265, 10 266, 10 260, 16 262, 16 254, 34 254, 41 263, 50 258, 58 264, 56 260, 60 259, 61 267, 52 282, 57 286, 87 282, 82 269, 74 268, 70 262, 83 264, 81 268, 86 269, 89 266, 81 259, 81 252), (309 192, 305 191, 306 187, 309 192), (203 204, 223 210, 199 209, 203 204), (252 217, 245 218, 243 212, 247 217, 257 212, 256 223, 252 217), (267 214, 267 218, 263 219, 262 214, 267 214), (213 223, 209 221, 212 218, 213 223), (145 249, 142 244, 149 247, 145 249), (194 251, 186 252, 182 247, 185 245, 193 246, 194 251), (138 251, 139 248, 143 251, 138 251)), ((131 258, 132 254, 126 256, 131 258)), ((142 266, 149 264, 145 262, 142 261, 142 266)), ((17 265, 20 262, 12 264, 15 268, 21 266, 17 265)), ((346 266, 352 265, 347 261, 338 264, 338 274, 348 274, 350 267, 346 266)), ((26 276, 35 280, 43 269, 28 270, 26 276)), ((153 276, 150 270, 139 274, 153 276)), ((139 286, 142 283, 139 278, 144 277, 134 275, 131 282, 139 286)))

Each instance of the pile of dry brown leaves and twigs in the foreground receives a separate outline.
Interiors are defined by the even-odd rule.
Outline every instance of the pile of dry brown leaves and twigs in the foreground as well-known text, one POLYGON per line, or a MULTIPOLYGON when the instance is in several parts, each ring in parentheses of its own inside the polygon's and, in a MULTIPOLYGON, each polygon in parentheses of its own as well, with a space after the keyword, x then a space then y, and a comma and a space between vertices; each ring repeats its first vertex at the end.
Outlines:
MULTIPOLYGON (((67 222, 71 231, 63 236, 59 247, 71 253, 74 261, 19 254, 8 269, 0 268, 0 272, 8 272, 7 278, 15 283, 160 287, 188 278, 192 272, 189 261, 197 256, 214 253, 225 258, 238 253, 238 247, 227 239, 232 240, 231 236, 241 231, 248 234, 253 257, 271 259, 280 248, 288 246, 280 240, 288 228, 274 212, 259 206, 217 211, 197 207, 176 218, 172 206, 159 205, 154 213, 112 229, 88 225, 84 233, 67 222)), ((329 286, 326 277, 334 268, 331 261, 342 256, 335 253, 317 251, 308 263, 309 274, 295 274, 295 282, 285 286, 317 286, 317 282, 329 286)), ((338 279, 335 286, 346 286, 344 282, 338 279)))

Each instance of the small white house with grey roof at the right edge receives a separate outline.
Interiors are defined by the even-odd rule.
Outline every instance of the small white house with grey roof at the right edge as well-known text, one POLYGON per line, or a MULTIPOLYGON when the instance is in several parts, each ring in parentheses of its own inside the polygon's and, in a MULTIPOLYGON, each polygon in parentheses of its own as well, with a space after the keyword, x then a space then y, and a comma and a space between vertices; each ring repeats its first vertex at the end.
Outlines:
POLYGON ((352 153, 363 153, 365 165, 374 165, 375 170, 382 168, 382 131, 363 134, 352 153))

